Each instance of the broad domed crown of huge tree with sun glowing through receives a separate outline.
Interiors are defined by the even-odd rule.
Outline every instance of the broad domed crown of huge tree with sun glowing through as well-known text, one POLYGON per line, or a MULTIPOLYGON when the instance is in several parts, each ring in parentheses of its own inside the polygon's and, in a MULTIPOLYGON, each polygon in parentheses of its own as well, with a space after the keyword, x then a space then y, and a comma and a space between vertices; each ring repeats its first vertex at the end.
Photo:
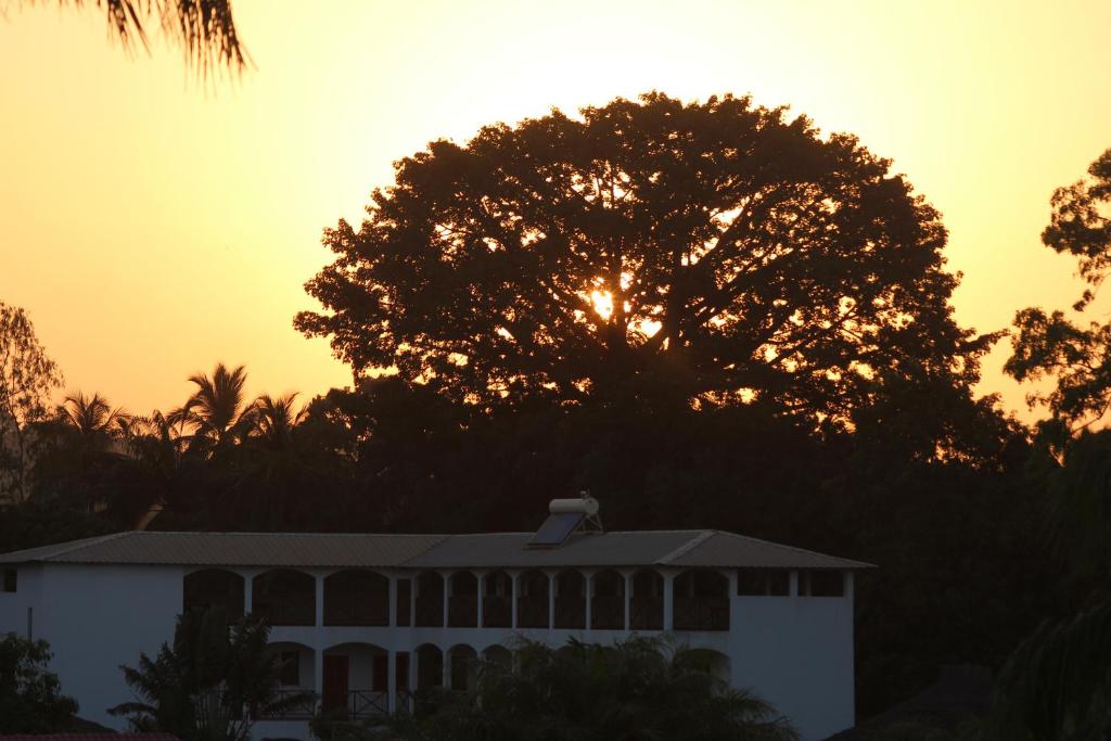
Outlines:
POLYGON ((458 401, 763 398, 847 419, 889 383, 967 391, 938 212, 849 134, 660 93, 436 141, 397 164, 302 312, 357 374, 458 401))

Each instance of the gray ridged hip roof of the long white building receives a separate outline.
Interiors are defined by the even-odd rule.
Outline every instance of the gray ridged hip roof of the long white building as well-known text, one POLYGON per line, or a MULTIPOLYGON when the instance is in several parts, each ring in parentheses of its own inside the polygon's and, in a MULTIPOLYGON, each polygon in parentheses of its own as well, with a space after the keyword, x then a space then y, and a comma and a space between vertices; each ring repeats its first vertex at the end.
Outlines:
POLYGON ((468 535, 120 532, 0 555, 0 563, 116 563, 300 568, 639 567, 865 569, 850 561, 718 530, 573 535, 526 548, 530 532, 468 535))

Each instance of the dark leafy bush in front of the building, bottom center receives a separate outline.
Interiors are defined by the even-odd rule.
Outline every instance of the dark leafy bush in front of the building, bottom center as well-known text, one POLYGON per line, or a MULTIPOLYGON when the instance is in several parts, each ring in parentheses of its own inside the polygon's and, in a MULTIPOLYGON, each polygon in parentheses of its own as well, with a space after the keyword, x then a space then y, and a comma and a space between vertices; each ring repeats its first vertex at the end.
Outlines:
POLYGON ((476 689, 387 733, 452 741, 787 741, 785 719, 712 673, 713 654, 632 638, 613 645, 523 642, 518 668, 483 663, 476 689))

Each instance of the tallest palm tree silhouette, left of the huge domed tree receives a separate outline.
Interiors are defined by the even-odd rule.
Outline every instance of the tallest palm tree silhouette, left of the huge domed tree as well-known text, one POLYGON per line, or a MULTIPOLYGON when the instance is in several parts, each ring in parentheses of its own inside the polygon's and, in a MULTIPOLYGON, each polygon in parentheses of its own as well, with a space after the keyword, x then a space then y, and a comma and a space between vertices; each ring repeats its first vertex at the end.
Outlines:
POLYGON ((254 422, 256 408, 243 403, 247 370, 229 370, 218 363, 211 378, 196 373, 189 381, 197 385, 184 405, 170 412, 171 424, 192 428, 190 449, 212 454, 242 440, 254 422))

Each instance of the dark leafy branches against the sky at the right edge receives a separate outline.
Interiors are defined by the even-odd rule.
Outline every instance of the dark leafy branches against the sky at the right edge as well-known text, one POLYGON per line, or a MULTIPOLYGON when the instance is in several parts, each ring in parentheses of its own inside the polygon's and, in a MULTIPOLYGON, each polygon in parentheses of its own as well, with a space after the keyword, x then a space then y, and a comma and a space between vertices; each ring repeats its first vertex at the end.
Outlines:
MULTIPOLYGON (((1079 180, 1053 193, 1050 226, 1042 242, 1059 253, 1074 256, 1088 283, 1073 306, 1083 311, 1111 269, 1111 149, 1079 180)), ((1111 408, 1111 324, 1074 323, 1061 311, 1038 308, 1019 311, 1013 354, 1005 370, 1019 381, 1053 380, 1048 393, 1032 392, 1030 404, 1047 407, 1054 419, 1072 429, 1101 419, 1111 408)))

